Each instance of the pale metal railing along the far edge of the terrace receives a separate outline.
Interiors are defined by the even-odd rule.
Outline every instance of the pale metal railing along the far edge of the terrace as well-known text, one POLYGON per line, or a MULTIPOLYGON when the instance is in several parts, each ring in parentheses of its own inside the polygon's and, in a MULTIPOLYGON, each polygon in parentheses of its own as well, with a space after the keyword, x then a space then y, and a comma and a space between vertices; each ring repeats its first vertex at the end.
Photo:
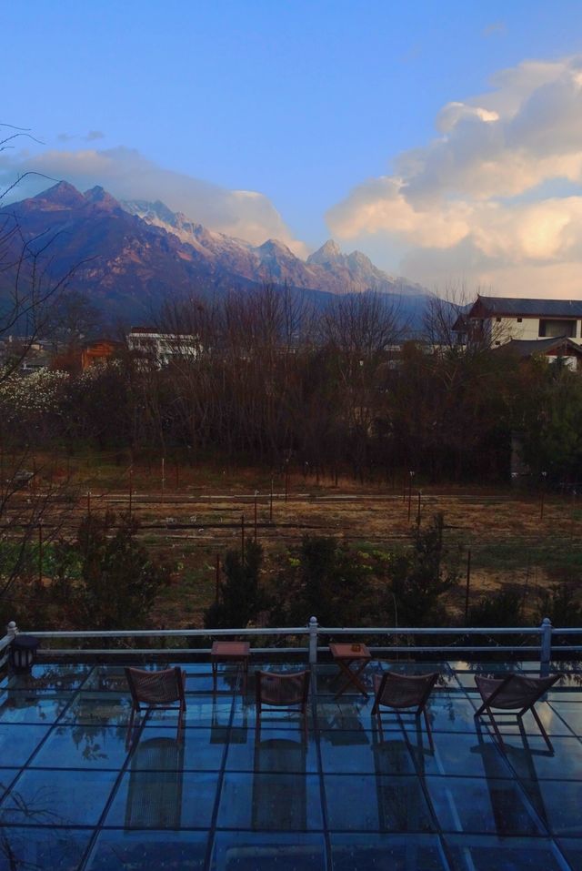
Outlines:
MULTIPOLYGON (((26 631, 29 632, 28 630, 26 631)), ((7 653, 7 648, 12 643, 15 635, 19 633, 16 624, 9 623, 6 627, 5 637, 0 639, 0 658, 7 653)), ((552 626, 549 618, 546 617, 539 626, 531 627, 386 627, 386 626, 321 626, 317 623, 316 617, 311 617, 306 626, 286 626, 277 628, 252 627, 246 629, 135 629, 105 632, 103 630, 85 630, 85 631, 51 631, 51 632, 36 632, 30 631, 36 638, 54 641, 62 639, 85 641, 95 638, 115 640, 116 642, 124 639, 140 639, 140 638, 160 638, 164 641, 171 639, 188 639, 188 638, 220 638, 224 636, 249 637, 259 639, 277 638, 283 639, 286 636, 294 636, 296 638, 305 638, 306 646, 281 647, 271 646, 254 646, 253 653, 305 653, 308 662, 316 664, 318 654, 327 650, 326 643, 329 638, 336 638, 341 635, 366 635, 380 643, 370 645, 370 650, 373 653, 415 653, 419 656, 428 653, 438 653, 439 655, 453 655, 455 653, 511 653, 512 655, 520 654, 537 659, 542 665, 550 663, 552 657, 559 653, 560 656, 573 654, 576 656, 582 651, 582 644, 568 644, 568 636, 582 637, 582 627, 579 629, 559 629, 552 626), (497 639, 509 638, 510 636, 520 636, 524 639, 531 639, 532 643, 500 643, 497 639), (429 643, 419 643, 423 637, 428 636, 429 643), (432 636, 432 637, 431 637, 432 636), (443 644, 435 643, 435 637, 443 638, 443 644), (556 644, 555 639, 559 638, 560 643, 556 644), (386 639, 386 644, 381 643, 386 639), (402 643, 405 639, 406 643, 402 643), (448 639, 448 640, 447 640, 448 639), (476 643, 470 643, 471 639, 475 639, 476 643), (479 639, 484 639, 485 643, 477 643, 479 639), (445 643, 447 641, 447 643, 445 643)), ((74 656, 75 653, 102 653, 105 655, 115 655, 119 653, 172 653, 179 655, 181 653, 208 653, 209 648, 204 647, 172 647, 167 645, 164 647, 147 647, 144 649, 136 649, 133 646, 127 646, 125 649, 116 647, 115 649, 106 648, 103 646, 95 647, 94 649, 83 648, 52 648, 53 653, 60 655, 74 656)))

